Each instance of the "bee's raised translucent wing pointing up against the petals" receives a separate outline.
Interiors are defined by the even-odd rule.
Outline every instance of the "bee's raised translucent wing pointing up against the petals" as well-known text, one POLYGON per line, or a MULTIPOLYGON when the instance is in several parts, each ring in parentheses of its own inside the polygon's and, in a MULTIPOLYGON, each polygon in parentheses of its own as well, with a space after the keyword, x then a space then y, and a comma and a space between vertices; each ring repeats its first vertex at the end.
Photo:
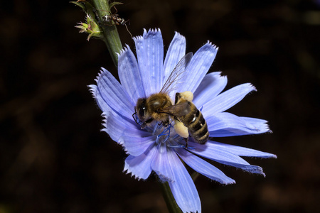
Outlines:
POLYGON ((178 80, 181 80, 181 74, 185 71, 188 63, 191 61, 192 56, 193 53, 188 53, 184 55, 183 58, 181 58, 181 60, 178 62, 176 67, 174 67, 174 70, 172 70, 168 79, 164 83, 164 87, 162 87, 160 93, 169 93, 170 90, 173 89, 174 84, 176 84, 178 80))

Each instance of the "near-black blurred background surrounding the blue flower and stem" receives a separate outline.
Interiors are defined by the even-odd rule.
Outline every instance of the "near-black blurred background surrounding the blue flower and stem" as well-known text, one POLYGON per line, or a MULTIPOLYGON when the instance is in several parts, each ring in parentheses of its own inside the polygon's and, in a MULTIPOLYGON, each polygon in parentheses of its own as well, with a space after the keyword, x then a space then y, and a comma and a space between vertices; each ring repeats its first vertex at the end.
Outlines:
MULTIPOLYGON (((320 198, 320 1, 123 1, 129 31, 174 31, 187 51, 218 45, 210 71, 257 92, 230 109, 267 119, 273 133, 215 138, 274 153, 246 158, 266 178, 213 163, 237 184, 196 180, 203 212, 317 212, 320 198)), ((102 129, 87 85, 100 67, 117 75, 105 44, 78 33, 85 13, 68 1, 1 6, 0 212, 166 212, 152 175, 122 173, 126 155, 102 129)), ((134 50, 124 26, 122 42, 134 50)))

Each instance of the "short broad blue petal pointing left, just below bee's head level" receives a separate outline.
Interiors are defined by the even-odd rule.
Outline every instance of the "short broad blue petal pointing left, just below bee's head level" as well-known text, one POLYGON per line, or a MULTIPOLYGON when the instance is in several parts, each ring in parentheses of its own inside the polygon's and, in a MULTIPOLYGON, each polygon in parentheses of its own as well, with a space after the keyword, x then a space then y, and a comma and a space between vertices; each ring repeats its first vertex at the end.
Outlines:
POLYGON ((124 144, 126 140, 132 140, 131 137, 150 136, 149 132, 138 129, 139 127, 134 121, 129 121, 119 114, 112 113, 112 111, 106 111, 103 116, 106 119, 103 124, 105 129, 102 129, 102 131, 107 132, 112 140, 117 143, 124 144))

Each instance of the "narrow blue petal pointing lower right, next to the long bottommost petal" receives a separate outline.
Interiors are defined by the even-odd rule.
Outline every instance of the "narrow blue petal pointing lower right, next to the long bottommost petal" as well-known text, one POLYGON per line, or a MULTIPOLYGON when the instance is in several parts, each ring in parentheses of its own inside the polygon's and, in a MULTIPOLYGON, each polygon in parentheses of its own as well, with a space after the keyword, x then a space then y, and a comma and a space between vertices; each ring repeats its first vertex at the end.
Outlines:
POLYGON ((235 183, 235 180, 229 178, 227 175, 221 172, 221 170, 215 168, 215 166, 211 165, 205 160, 198 158, 196 155, 189 153, 183 148, 177 149, 177 153, 186 164, 193 168, 193 170, 205 175, 207 178, 218 181, 222 184, 235 183))

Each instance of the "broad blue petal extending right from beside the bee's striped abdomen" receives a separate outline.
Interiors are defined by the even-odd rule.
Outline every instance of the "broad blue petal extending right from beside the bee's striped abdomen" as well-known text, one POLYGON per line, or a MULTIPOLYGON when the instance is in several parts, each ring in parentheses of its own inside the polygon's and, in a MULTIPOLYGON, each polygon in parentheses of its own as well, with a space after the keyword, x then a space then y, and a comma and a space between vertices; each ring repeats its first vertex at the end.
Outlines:
POLYGON ((228 112, 220 112, 210 115, 208 111, 203 113, 206 118, 211 137, 242 136, 270 132, 267 121, 239 117, 228 112))

